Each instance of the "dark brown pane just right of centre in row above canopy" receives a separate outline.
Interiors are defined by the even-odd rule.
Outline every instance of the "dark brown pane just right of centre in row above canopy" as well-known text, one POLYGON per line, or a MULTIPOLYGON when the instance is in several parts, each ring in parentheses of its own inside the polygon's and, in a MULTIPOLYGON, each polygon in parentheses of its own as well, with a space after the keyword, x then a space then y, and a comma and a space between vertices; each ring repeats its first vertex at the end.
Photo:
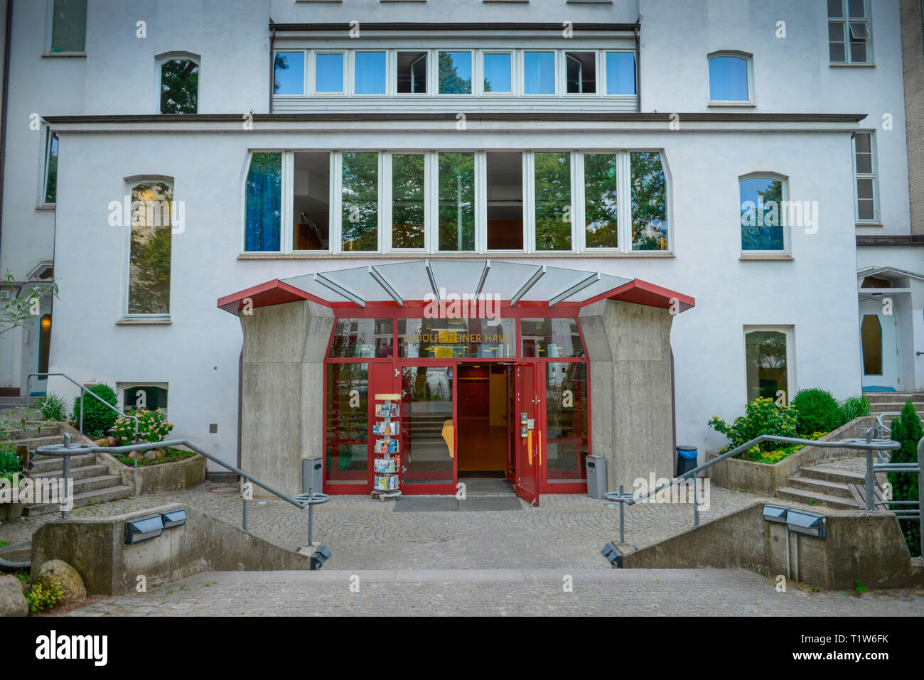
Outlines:
POLYGON ((523 249, 523 154, 488 152, 488 249, 523 249))

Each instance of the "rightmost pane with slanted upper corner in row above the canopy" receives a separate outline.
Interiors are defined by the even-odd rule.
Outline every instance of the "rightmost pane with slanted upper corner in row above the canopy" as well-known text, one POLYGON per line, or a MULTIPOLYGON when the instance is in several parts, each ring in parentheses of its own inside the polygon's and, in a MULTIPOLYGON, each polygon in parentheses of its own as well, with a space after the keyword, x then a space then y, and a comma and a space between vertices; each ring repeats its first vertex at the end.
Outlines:
POLYGON ((658 152, 632 152, 632 249, 667 249, 667 182, 658 152))

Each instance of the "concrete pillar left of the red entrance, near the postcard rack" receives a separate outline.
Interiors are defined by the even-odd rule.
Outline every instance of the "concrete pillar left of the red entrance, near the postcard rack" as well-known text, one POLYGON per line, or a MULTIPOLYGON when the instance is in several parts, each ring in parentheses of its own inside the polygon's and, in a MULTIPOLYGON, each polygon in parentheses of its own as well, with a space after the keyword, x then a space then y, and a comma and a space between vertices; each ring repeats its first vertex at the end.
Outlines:
POLYGON ((300 493, 301 461, 324 455, 324 353, 334 313, 288 302, 241 315, 240 324, 241 469, 280 492, 300 493))

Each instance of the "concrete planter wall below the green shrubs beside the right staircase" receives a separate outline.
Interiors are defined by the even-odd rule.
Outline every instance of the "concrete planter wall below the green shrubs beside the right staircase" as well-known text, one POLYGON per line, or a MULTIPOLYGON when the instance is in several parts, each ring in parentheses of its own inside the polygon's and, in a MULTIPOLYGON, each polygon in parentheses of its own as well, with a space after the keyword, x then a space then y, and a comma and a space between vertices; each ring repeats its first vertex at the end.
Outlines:
MULTIPOLYGON (((863 436, 863 431, 876 424, 872 416, 855 418, 837 430, 821 438, 821 442, 834 442, 841 439, 856 439, 863 436)), ((772 496, 777 489, 789 486, 789 478, 796 476, 799 469, 807 465, 816 465, 830 461, 832 458, 853 457, 861 455, 855 449, 826 449, 819 446, 806 446, 789 455, 779 463, 756 463, 741 458, 725 458, 711 469, 711 480, 726 489, 760 493, 772 496)), ((709 451, 707 461, 717 458, 719 454, 709 451)))

